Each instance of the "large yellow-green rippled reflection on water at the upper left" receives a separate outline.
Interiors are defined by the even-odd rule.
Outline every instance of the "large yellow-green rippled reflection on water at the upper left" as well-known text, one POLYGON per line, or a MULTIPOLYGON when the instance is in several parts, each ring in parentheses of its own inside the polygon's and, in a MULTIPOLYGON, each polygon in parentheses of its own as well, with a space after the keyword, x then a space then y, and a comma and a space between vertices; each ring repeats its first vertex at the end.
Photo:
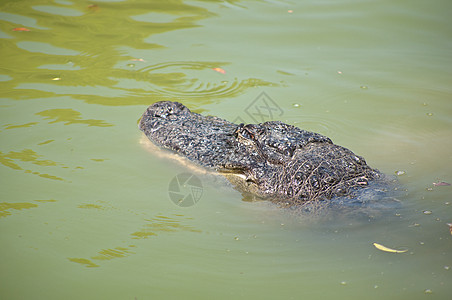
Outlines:
POLYGON ((39 24, 45 25, 41 27, 28 17, 0 14, 9 30, 30 27, 29 32, 11 32, 11 40, 0 40, 3 55, 10 58, 3 62, 5 75, 12 75, 5 85, 8 96, 70 95, 88 103, 136 105, 175 96, 210 102, 253 87, 276 86, 258 78, 219 76, 211 70, 228 64, 224 62, 162 62, 148 53, 137 57, 141 49, 164 48, 152 42, 153 35, 197 27, 200 20, 213 16, 183 1, 164 4, 164 13, 174 18, 154 18, 160 15, 161 4, 153 3, 32 6, 39 24), (150 12, 143 15, 142 5, 150 12), (52 82, 55 78, 58 82, 52 82))

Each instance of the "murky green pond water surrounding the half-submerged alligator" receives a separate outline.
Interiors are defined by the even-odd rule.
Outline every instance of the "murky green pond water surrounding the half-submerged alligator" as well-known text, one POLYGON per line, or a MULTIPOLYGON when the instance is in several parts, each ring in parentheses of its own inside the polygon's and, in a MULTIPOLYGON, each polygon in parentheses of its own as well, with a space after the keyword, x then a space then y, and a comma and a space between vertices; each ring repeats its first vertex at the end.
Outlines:
POLYGON ((451 11, 2 1, 1 298, 450 299, 452 186, 433 182, 452 183, 451 11), (175 205, 169 184, 187 169, 140 143, 145 108, 253 122, 263 92, 279 108, 263 119, 403 174, 401 207, 300 218, 202 175, 199 201, 175 205))

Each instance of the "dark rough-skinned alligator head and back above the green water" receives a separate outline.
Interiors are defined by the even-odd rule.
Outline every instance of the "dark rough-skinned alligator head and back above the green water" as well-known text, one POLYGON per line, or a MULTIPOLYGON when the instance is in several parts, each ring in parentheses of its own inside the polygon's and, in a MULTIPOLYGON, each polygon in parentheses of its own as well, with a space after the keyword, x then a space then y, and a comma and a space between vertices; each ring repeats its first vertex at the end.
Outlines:
POLYGON ((369 189, 388 190, 386 176, 363 157, 326 136, 280 121, 234 124, 161 101, 147 108, 139 128, 160 148, 224 175, 244 193, 284 207, 362 202, 375 195, 369 189))

